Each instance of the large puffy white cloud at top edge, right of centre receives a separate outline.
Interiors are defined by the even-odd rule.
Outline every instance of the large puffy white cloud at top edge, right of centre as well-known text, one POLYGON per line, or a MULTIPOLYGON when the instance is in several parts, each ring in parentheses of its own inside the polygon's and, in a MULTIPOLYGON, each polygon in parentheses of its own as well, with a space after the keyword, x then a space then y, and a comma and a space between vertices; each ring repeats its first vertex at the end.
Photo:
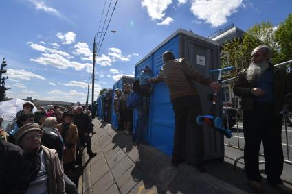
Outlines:
POLYGON ((237 12, 243 0, 191 0, 191 4, 190 10, 198 19, 218 27, 227 23, 227 17, 237 12))

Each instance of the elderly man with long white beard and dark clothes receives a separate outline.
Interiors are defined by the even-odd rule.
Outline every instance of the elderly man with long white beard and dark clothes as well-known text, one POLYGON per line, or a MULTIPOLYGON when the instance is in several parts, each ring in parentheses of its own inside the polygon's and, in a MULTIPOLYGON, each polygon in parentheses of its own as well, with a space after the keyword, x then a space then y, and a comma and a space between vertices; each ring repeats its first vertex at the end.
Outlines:
POLYGON ((292 193, 280 179, 284 159, 280 110, 291 81, 284 69, 269 62, 270 58, 267 45, 256 47, 251 53, 251 64, 239 73, 234 86, 234 94, 242 97, 245 171, 249 186, 261 193, 258 152, 262 141, 268 183, 283 193, 292 193))

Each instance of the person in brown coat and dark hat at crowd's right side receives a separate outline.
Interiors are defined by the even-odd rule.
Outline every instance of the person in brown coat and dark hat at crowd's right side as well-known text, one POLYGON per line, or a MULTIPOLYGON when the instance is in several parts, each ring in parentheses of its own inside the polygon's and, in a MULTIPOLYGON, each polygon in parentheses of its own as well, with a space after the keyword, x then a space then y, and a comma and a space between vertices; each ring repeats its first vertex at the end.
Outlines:
POLYGON ((65 174, 69 178, 73 175, 76 161, 76 143, 78 141, 78 130, 72 123, 74 114, 71 111, 63 113, 62 123, 57 125, 57 129, 63 137, 65 150, 63 156, 63 167, 65 174))

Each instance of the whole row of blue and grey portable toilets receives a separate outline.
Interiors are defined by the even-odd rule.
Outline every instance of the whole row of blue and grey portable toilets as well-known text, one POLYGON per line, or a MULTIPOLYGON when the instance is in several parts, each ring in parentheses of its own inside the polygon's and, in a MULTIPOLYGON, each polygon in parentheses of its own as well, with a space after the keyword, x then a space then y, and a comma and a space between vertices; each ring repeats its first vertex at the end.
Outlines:
MULTIPOLYGON (((172 51, 172 53, 175 54, 175 58, 186 58, 186 60, 188 60, 202 75, 210 77, 212 80, 216 80, 217 75, 210 74, 209 70, 218 69, 220 66, 218 43, 183 29, 178 29, 175 33, 171 34, 166 40, 155 47, 153 51, 148 53, 147 56, 137 62, 137 64, 135 64, 135 77, 141 73, 145 66, 149 66, 150 69, 152 69, 152 77, 157 76, 161 66, 164 64, 161 56, 165 51, 172 51)), ((121 77, 120 80, 113 85, 113 88, 109 89, 113 94, 111 96, 112 99, 114 99, 115 95, 113 90, 116 88, 122 90, 122 86, 126 83, 131 84, 135 77, 121 77)), ((210 111, 210 101, 213 95, 212 90, 200 84, 194 83, 194 85, 199 90, 203 113, 207 114, 210 111)), ((102 99, 105 93, 100 95, 97 99, 97 115, 101 119, 104 117, 102 115, 102 99)), ((221 99, 218 99, 216 115, 221 116, 221 108, 222 101, 221 99)), ((136 122, 137 112, 134 110, 133 128, 135 128, 136 122)), ((117 129, 117 117, 113 110, 113 103, 111 108, 111 124, 113 128, 117 129)), ((144 132, 144 141, 147 141, 153 147, 164 151, 164 153, 171 155, 175 130, 175 117, 170 102, 168 87, 165 82, 155 84, 153 87, 153 93, 150 96, 149 121, 146 128, 147 130, 144 132)), ((204 131, 205 159, 222 159, 224 157, 223 136, 207 126, 204 126, 204 131)), ((188 128, 186 136, 187 145, 188 143, 193 145, 193 143, 191 143, 193 141, 192 129, 188 128)), ((194 151, 194 147, 187 146, 187 154, 192 151, 194 151)))

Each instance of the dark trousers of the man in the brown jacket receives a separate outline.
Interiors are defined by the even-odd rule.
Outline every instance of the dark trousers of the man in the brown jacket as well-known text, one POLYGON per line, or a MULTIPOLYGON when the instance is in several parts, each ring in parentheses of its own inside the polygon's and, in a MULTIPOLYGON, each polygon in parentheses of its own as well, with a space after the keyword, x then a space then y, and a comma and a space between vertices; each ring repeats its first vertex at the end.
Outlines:
MULTIPOLYGON (((202 114, 199 96, 186 96, 172 99, 173 110, 175 111, 175 140, 173 147, 172 160, 186 160, 186 143, 188 123, 192 126, 192 134, 188 138, 192 145, 191 149, 192 165, 203 162, 205 154, 203 126, 196 124, 196 117, 202 114)), ((188 152, 190 152, 188 151, 188 152)))

